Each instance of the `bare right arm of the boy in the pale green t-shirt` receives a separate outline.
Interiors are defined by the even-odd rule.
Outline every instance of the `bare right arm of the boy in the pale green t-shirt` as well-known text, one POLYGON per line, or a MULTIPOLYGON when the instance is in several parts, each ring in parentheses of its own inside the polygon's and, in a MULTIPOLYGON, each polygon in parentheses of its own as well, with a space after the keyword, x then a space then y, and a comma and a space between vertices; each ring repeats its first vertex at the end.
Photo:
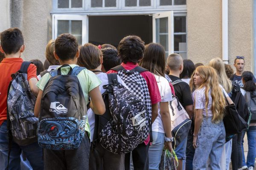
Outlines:
POLYGON ((93 88, 89 92, 90 98, 91 98, 91 108, 93 109, 93 112, 98 115, 102 115, 105 113, 106 108, 104 101, 102 99, 102 94, 99 91, 99 86, 96 88, 93 88))

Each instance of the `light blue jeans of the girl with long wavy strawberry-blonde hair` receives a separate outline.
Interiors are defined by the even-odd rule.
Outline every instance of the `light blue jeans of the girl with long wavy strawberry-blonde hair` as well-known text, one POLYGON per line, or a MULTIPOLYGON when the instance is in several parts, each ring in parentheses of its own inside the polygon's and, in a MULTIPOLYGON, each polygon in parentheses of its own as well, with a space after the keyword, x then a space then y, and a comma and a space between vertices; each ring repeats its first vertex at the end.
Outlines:
POLYGON ((220 170, 221 153, 225 144, 225 127, 223 121, 212 123, 212 116, 203 117, 198 133, 197 147, 193 159, 193 170, 206 170, 208 158, 211 160, 208 167, 220 170))

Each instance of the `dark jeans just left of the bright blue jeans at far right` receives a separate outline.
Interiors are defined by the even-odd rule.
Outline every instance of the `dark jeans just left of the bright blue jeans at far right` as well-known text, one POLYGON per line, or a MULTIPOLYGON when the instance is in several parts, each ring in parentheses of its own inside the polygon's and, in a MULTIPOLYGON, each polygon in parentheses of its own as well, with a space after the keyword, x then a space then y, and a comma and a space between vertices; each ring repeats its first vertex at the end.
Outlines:
POLYGON ((231 153, 231 163, 232 170, 237 170, 242 167, 243 154, 242 154, 242 139, 244 132, 238 133, 232 139, 232 153, 231 153))

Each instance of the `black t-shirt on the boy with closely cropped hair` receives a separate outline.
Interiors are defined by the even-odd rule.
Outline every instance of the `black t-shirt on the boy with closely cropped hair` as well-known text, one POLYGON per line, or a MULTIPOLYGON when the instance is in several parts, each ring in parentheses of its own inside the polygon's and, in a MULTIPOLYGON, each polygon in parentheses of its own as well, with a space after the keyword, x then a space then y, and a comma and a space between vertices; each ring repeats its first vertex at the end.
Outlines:
MULTIPOLYGON (((179 77, 176 77, 176 76, 172 76, 172 75, 168 75, 168 76, 170 77, 170 79, 172 79, 172 82, 176 80, 181 80, 179 77)), ((190 91, 189 85, 186 82, 183 82, 181 80, 181 82, 174 84, 173 87, 174 87, 175 95, 178 97, 179 102, 181 103, 183 108, 185 108, 188 105, 193 105, 191 91, 190 91)))

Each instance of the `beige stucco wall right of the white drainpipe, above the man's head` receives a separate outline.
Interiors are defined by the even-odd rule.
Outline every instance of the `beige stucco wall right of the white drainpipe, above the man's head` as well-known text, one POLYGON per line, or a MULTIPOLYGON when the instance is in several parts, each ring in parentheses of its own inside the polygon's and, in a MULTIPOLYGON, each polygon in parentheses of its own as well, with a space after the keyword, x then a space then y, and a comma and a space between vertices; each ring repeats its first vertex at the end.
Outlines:
POLYGON ((229 0, 229 61, 245 57, 244 70, 253 71, 253 0, 229 0))

